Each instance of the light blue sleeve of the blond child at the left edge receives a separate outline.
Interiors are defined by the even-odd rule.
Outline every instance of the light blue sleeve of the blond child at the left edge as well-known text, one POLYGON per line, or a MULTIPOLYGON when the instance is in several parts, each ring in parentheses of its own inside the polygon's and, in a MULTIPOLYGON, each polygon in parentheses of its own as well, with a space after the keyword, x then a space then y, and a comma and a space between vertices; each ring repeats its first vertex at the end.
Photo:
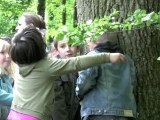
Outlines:
POLYGON ((11 106, 13 94, 7 93, 5 90, 0 89, 0 105, 11 106))

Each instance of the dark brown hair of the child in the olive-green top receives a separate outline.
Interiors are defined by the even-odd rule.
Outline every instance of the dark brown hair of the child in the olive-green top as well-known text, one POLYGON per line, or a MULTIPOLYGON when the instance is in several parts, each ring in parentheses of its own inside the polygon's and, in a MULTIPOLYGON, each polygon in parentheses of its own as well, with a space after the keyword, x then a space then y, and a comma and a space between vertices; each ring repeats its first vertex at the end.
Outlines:
POLYGON ((46 56, 46 44, 34 26, 27 26, 13 37, 11 58, 17 64, 31 64, 46 56))

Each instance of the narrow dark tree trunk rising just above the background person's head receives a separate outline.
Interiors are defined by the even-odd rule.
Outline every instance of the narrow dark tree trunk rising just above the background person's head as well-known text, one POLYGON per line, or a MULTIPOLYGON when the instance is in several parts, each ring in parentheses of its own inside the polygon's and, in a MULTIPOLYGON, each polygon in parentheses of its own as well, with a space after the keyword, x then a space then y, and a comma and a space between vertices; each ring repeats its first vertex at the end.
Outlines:
POLYGON ((37 7, 38 14, 44 18, 45 15, 45 0, 38 0, 37 7))

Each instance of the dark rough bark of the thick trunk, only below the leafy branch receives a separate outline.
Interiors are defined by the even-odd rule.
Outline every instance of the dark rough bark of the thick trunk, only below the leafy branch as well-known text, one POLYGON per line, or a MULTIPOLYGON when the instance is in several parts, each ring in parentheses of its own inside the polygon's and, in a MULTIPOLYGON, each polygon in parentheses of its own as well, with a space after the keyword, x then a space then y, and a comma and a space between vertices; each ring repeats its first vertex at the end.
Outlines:
POLYGON ((159 120, 160 107, 160 31, 143 28, 124 31, 120 44, 132 56, 137 68, 138 120, 159 120))

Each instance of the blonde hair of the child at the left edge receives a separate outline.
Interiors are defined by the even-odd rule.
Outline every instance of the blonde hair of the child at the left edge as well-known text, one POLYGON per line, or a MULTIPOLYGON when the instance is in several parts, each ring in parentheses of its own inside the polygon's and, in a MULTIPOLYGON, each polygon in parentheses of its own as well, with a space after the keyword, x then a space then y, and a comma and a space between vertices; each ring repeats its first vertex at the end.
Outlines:
MULTIPOLYGON (((9 53, 10 47, 11 47, 11 45, 7 41, 0 39, 0 52, 8 52, 9 53)), ((15 63, 13 63, 12 61, 11 61, 11 64, 7 70, 2 65, 0 65, 0 75, 1 74, 8 74, 12 77, 15 72, 14 69, 15 69, 15 63)))

